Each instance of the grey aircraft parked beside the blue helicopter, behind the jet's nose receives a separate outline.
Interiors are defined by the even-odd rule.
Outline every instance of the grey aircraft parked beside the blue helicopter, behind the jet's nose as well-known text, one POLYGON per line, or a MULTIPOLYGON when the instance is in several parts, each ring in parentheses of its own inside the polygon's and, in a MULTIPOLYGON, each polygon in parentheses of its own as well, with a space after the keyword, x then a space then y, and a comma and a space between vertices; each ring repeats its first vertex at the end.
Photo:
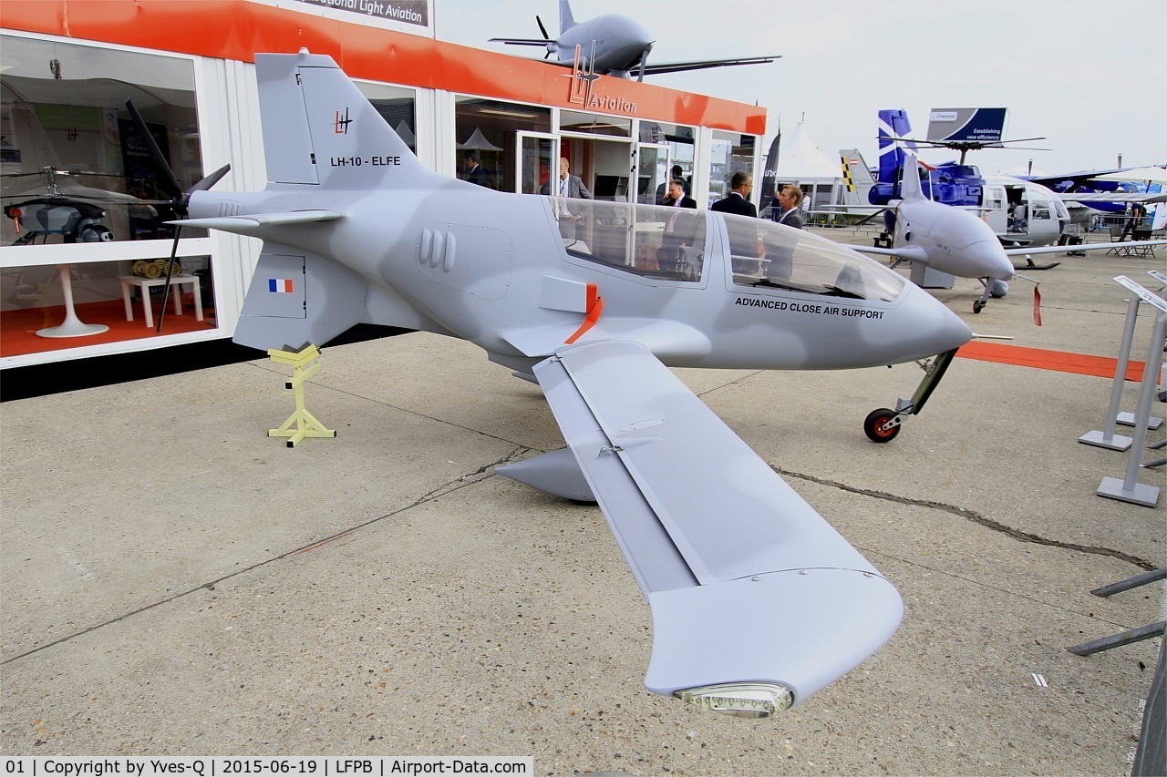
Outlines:
MULTIPOLYGON (((945 205, 928 200, 920 183, 921 167, 913 154, 904 159, 904 176, 900 189, 903 200, 890 203, 894 208, 892 247, 855 246, 864 253, 894 257, 893 268, 903 260, 918 262, 942 273, 959 278, 977 278, 985 286, 980 299, 972 303, 972 312, 980 313, 990 296, 1001 298, 1008 290, 1006 281, 1020 275, 1009 257, 1032 257, 1041 253, 1067 251, 1099 251, 1130 247, 1131 243, 1095 243, 1076 246, 1041 246, 1006 249, 984 219, 972 210, 945 205)), ((927 175, 927 173, 923 173, 927 175)), ((1034 184, 1035 186, 1035 184, 1034 184)), ((1167 240, 1147 240, 1138 245, 1160 245, 1167 240)), ((1027 279, 1032 280, 1032 279, 1027 279)))

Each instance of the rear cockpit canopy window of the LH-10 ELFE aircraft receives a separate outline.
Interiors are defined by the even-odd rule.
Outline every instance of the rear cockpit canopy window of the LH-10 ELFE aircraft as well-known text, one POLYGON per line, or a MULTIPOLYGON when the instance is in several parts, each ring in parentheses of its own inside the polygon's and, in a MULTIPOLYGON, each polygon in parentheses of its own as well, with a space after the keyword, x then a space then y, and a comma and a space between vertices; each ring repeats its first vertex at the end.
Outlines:
POLYGON ((596 200, 548 197, 567 253, 626 272, 699 281, 705 264, 706 215, 596 200))

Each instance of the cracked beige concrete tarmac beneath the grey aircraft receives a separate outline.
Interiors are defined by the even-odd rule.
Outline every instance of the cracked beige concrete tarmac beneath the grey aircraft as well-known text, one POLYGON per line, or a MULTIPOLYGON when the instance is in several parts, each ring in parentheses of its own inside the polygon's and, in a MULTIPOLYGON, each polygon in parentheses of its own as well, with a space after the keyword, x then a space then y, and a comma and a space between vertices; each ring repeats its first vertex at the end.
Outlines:
MULTIPOLYGON (((1154 288, 1162 260, 1055 259, 1033 273, 1041 328, 1022 280, 977 316, 976 281, 936 295, 974 331, 1116 356, 1128 293, 1110 279, 1154 288)), ((957 358, 880 446, 861 422, 910 396, 915 365, 678 370, 906 603, 851 674, 746 721, 648 693, 649 610, 599 509, 495 474, 562 447, 537 386, 426 334, 323 352, 307 406, 338 434, 294 449, 266 436, 294 408, 266 358, 0 407, 4 754, 1130 772, 1160 639, 1067 651, 1162 618, 1162 583, 1090 594, 1167 555, 1167 497, 1096 496, 1127 454, 1077 442, 1111 377, 957 358)))

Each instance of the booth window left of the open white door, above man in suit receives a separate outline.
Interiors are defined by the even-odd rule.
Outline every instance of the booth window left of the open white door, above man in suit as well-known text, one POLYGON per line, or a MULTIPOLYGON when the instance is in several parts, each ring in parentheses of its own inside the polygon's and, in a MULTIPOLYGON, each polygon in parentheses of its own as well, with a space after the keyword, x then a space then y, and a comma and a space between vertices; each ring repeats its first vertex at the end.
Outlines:
POLYGON ((518 191, 515 133, 551 132, 551 108, 459 97, 454 102, 457 177, 490 189, 518 191))

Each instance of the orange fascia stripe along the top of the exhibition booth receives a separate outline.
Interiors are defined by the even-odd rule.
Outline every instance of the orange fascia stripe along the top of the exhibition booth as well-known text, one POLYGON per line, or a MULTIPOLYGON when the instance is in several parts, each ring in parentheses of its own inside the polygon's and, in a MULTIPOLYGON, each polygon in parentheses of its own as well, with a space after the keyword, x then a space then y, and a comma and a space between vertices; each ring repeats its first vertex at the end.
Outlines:
MULTIPOLYGON (((305 47, 331 56, 354 78, 588 110, 569 102, 571 68, 246 0, 4 0, 0 23, 239 62, 305 47)), ((764 107, 610 76, 594 89, 612 103, 636 105, 605 113, 766 133, 764 107)))

